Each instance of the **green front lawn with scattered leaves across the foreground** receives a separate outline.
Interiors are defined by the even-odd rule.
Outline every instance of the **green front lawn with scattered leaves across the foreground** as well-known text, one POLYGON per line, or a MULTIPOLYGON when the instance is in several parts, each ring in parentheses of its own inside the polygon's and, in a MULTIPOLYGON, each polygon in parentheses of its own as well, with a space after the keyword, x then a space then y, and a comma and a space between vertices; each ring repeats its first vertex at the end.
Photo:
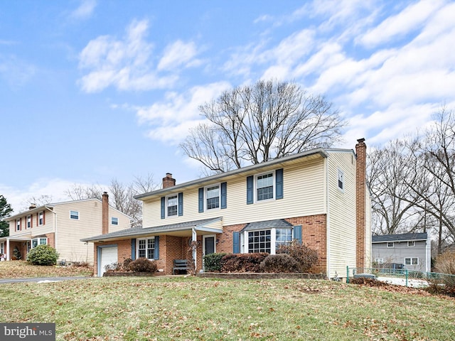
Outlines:
POLYGON ((57 340, 454 340, 455 300, 324 280, 91 278, 0 286, 57 340))

